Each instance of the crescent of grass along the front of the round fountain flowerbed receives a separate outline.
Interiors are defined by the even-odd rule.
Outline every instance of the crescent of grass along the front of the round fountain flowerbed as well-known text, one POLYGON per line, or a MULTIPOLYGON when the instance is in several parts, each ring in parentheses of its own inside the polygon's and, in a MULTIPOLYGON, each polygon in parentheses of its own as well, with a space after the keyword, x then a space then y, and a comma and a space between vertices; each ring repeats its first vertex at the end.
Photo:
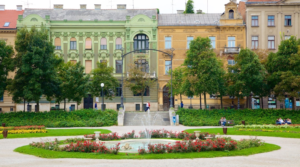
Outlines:
POLYGON ((225 151, 205 151, 199 153, 170 153, 170 154, 145 154, 137 153, 118 153, 114 154, 93 154, 93 153, 75 153, 49 151, 44 149, 32 148, 29 145, 16 148, 14 151, 23 154, 34 155, 41 158, 84 158, 84 159, 193 159, 193 158, 213 158, 213 157, 229 157, 229 156, 249 156, 258 153, 264 153, 280 149, 280 146, 265 143, 263 146, 255 148, 247 148, 244 150, 225 151))

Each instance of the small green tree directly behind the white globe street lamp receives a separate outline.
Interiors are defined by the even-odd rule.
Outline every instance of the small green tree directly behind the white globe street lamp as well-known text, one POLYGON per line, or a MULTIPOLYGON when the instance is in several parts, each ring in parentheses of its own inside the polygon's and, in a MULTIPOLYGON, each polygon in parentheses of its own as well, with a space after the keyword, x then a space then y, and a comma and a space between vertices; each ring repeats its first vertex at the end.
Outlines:
POLYGON ((90 93, 96 97, 101 96, 102 87, 100 85, 103 83, 105 99, 113 100, 116 94, 116 88, 120 85, 118 79, 112 76, 115 69, 107 66, 107 62, 97 62, 97 67, 98 68, 91 71, 93 80, 90 84, 90 93))

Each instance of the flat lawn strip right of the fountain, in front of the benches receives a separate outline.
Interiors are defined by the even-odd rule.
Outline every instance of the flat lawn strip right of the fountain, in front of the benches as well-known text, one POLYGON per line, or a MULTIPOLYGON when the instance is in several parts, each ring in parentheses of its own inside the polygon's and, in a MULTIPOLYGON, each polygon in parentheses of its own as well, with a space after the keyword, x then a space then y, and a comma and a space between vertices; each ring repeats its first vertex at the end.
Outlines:
MULTIPOLYGON (((250 129, 250 128, 247 128, 250 129)), ((201 132, 208 132, 208 133, 220 133, 223 135, 223 128, 209 128, 209 129, 187 129, 188 133, 194 133, 195 130, 200 130, 201 132)), ((259 131, 234 131, 235 128, 227 128, 227 135, 246 135, 246 136, 270 136, 270 137, 286 137, 286 138, 300 138, 300 133, 286 133, 286 132, 259 132, 259 131)), ((291 130, 299 132, 300 129, 267 129, 267 130, 291 130)))

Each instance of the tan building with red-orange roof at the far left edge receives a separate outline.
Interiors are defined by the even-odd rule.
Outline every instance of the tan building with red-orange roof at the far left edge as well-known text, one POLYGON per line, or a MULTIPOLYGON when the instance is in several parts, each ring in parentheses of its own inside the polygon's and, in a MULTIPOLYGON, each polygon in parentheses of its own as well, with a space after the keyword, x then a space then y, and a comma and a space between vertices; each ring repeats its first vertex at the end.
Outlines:
MULTIPOLYGON (((17 5, 17 10, 5 10, 5 5, 0 5, 0 40, 4 40, 7 45, 14 47, 16 38, 16 23, 18 15, 22 15, 21 5, 17 5)), ((12 78, 13 72, 8 77, 12 78)), ((16 111, 16 106, 12 103, 12 97, 8 96, 7 91, 0 95, 0 113, 4 111, 16 111)))

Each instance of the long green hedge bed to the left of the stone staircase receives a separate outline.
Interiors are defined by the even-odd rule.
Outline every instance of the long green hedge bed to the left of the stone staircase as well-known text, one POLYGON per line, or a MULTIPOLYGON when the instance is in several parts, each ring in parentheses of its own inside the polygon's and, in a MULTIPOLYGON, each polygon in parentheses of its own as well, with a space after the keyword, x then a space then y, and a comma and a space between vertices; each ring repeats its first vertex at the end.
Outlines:
MULTIPOLYGON (((106 109, 81 109, 71 112, 52 110, 50 112, 0 113, 0 123, 5 126, 45 125, 45 127, 103 127, 118 124, 118 112, 106 109)), ((0 124, 1 125, 1 124, 0 124)))

